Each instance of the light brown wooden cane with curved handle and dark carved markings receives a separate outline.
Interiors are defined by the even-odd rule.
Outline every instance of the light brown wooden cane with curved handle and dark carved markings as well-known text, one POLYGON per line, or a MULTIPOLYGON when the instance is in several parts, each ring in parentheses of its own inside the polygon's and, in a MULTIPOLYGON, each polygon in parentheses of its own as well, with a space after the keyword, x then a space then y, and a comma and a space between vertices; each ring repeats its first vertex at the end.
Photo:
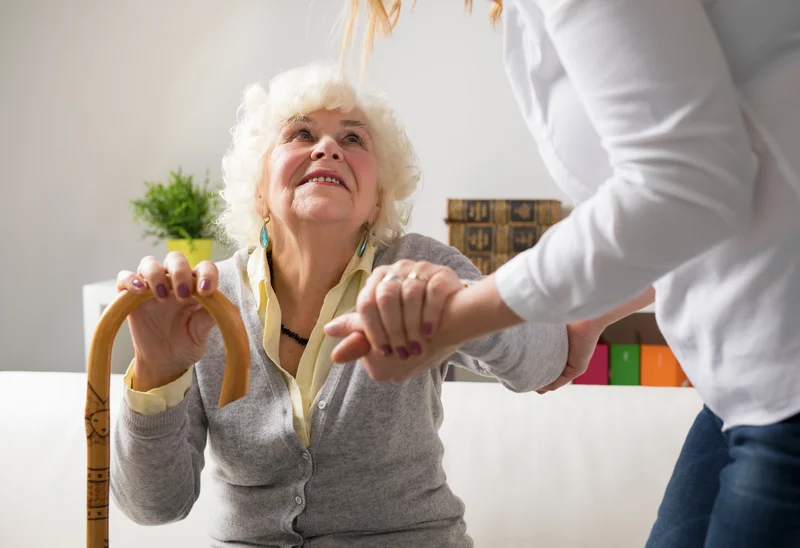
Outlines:
MULTIPOLYGON (((170 290, 171 281, 168 280, 170 290)), ((86 388, 86 546, 108 548, 108 489, 111 451, 108 398, 111 386, 111 348, 122 322, 143 302, 150 291, 134 294, 120 291, 105 309, 95 328, 89 350, 86 388)), ((218 405, 243 397, 250 388, 250 346, 239 309, 220 292, 209 297, 194 293, 211 313, 225 342, 225 373, 218 405)))

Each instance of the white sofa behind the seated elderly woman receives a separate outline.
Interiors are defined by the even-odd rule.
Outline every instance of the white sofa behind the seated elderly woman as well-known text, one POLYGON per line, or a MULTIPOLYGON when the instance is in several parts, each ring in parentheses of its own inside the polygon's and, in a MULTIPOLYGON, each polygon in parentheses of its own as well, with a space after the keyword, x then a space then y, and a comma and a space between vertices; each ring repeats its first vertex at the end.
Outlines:
MULTIPOLYGON (((85 546, 85 383, 0 372, 0 547, 85 546)), ((114 420, 120 376, 111 388, 114 420)), ((478 548, 641 548, 701 407, 691 388, 452 382, 443 399, 445 468, 478 548)), ((110 543, 206 546, 211 512, 201 496, 186 520, 142 527, 112 504, 110 543)))

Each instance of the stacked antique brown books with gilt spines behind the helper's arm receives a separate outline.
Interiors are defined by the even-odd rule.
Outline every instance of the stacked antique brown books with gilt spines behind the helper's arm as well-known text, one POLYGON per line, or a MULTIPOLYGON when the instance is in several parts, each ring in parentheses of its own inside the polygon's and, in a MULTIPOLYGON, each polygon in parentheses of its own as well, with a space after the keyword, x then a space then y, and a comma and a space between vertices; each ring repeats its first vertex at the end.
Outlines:
POLYGON ((558 200, 447 200, 450 245, 489 275, 561 220, 558 200))

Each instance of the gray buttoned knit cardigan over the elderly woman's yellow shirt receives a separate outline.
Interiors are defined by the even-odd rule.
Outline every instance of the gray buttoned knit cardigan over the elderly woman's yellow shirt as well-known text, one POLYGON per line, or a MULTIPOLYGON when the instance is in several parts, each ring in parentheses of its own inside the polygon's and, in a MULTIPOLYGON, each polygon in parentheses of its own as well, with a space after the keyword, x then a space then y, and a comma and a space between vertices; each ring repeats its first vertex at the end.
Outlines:
MULTIPOLYGON (((400 259, 480 278, 455 248, 417 234, 379 248, 374 264, 400 259)), ((565 327, 528 324, 490 335, 404 383, 375 382, 357 362, 334 365, 305 449, 294 431, 286 384, 261 344, 255 300, 244 283, 246 264, 247 251, 240 250, 218 267, 220 290, 241 310, 250 337, 250 392, 217 407, 225 347, 215 328, 183 402, 155 416, 122 404, 111 463, 117 505, 140 524, 186 517, 200 494, 210 441, 211 546, 472 546, 464 504, 442 469, 438 430, 447 367, 455 363, 495 376, 513 391, 535 390, 565 365, 565 327)))

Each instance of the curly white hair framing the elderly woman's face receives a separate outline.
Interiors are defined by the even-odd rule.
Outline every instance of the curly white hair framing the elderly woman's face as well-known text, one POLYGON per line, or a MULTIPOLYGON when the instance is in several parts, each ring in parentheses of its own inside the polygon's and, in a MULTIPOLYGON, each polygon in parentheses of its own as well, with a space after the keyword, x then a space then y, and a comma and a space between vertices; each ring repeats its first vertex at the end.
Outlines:
POLYGON ((366 117, 378 166, 380 213, 371 235, 385 243, 402 235, 411 212, 407 200, 419 182, 411 142, 383 98, 359 94, 340 67, 314 63, 279 74, 269 92, 260 83, 245 89, 232 145, 222 160, 225 208, 217 224, 229 240, 240 247, 259 242, 264 221, 256 211, 256 187, 283 124, 316 110, 354 108, 366 117))

